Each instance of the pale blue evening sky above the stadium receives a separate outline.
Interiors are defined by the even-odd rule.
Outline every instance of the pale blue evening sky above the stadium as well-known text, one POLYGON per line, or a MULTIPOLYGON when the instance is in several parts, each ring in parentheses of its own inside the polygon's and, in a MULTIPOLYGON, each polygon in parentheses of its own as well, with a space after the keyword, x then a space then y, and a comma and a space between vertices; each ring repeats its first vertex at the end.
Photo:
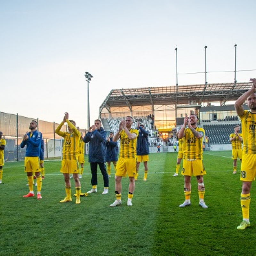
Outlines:
POLYGON ((208 84, 234 82, 235 44, 236 80, 248 82, 255 10, 255 0, 0 0, 0 111, 56 123, 68 112, 88 128, 85 72, 91 125, 112 89, 174 86, 176 46, 179 85, 204 84, 205 63, 208 84))

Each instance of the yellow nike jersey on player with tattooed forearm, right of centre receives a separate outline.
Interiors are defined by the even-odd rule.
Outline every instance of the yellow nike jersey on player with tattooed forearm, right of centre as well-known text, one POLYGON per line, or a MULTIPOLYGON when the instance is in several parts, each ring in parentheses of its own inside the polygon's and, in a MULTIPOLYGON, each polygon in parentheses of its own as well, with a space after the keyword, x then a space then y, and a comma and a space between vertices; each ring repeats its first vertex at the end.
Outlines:
POLYGON ((184 159, 203 159, 203 139, 204 139, 204 129, 201 127, 196 127, 197 132, 202 132, 203 136, 198 139, 191 132, 189 128, 186 128, 184 133, 184 145, 183 145, 183 158, 184 159))

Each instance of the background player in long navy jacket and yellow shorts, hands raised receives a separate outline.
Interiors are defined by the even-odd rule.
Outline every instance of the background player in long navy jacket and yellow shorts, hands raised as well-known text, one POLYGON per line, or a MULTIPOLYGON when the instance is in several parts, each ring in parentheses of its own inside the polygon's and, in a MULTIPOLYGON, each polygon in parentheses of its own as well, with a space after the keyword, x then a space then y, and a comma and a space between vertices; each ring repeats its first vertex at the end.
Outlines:
POLYGON ((136 155, 137 155, 137 173, 135 175, 135 180, 138 179, 140 162, 144 164, 144 181, 147 181, 148 175, 148 161, 149 161, 149 142, 148 142, 148 131, 145 130, 143 124, 140 124, 138 121, 138 138, 136 146, 136 155))

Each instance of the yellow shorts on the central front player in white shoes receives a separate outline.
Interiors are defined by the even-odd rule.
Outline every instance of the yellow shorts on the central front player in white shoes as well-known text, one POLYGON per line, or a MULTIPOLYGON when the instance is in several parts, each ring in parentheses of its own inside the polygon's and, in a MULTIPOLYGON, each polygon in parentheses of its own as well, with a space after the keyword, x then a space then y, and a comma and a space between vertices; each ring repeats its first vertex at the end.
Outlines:
POLYGON ((116 176, 134 177, 136 175, 136 158, 119 158, 116 164, 116 176))

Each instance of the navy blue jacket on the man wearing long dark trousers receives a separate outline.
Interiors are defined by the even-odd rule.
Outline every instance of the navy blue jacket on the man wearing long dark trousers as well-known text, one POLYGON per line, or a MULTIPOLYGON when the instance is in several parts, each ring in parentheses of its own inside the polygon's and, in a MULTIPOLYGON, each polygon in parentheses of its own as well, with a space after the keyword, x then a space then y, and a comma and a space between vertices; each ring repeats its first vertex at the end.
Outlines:
POLYGON ((99 130, 87 132, 84 136, 84 143, 89 143, 89 163, 106 162, 106 136, 107 132, 102 127, 99 130))

